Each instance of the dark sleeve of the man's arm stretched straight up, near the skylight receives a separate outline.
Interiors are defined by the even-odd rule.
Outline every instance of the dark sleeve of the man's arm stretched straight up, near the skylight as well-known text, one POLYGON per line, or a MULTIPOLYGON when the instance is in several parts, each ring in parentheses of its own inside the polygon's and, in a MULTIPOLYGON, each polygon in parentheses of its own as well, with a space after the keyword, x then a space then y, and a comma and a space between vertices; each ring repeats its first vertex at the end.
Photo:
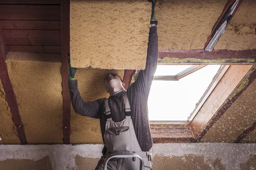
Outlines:
POLYGON ((146 98, 148 97, 151 83, 153 81, 153 77, 157 69, 157 61, 158 61, 157 26, 152 26, 149 29, 146 68, 144 70, 139 71, 136 81, 131 84, 130 88, 132 89, 132 91, 136 93, 140 93, 146 98))

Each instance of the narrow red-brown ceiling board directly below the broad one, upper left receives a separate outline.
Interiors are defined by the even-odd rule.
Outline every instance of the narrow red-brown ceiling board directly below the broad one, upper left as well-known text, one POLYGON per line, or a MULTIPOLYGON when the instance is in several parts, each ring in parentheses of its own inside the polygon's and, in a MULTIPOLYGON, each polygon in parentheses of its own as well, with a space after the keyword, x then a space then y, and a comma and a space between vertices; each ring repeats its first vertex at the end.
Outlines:
POLYGON ((2 20, 3 30, 60 30, 60 21, 2 20))

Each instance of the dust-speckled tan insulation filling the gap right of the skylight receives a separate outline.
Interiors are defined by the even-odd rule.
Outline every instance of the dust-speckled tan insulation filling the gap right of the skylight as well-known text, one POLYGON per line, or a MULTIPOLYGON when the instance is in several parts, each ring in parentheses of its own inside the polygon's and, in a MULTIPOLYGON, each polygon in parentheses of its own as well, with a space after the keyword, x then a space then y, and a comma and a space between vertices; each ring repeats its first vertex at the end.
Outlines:
POLYGON ((234 142, 256 121, 256 80, 229 107, 200 141, 234 142))

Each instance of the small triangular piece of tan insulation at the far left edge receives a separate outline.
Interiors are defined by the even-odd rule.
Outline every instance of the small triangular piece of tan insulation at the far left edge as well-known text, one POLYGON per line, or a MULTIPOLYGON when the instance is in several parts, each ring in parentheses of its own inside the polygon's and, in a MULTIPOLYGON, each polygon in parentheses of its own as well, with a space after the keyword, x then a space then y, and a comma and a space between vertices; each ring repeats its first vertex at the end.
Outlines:
POLYGON ((20 144, 16 127, 11 119, 10 108, 0 81, 0 144, 20 144))

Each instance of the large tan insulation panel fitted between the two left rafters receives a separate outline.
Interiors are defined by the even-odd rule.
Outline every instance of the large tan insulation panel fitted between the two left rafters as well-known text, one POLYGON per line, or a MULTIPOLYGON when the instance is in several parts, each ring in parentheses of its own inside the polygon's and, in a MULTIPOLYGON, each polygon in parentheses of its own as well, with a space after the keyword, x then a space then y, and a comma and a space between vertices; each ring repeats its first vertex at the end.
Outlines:
POLYGON ((55 58, 56 54, 7 54, 8 73, 28 144, 63 143, 61 63, 55 58), (43 56, 50 60, 36 60, 43 56))

